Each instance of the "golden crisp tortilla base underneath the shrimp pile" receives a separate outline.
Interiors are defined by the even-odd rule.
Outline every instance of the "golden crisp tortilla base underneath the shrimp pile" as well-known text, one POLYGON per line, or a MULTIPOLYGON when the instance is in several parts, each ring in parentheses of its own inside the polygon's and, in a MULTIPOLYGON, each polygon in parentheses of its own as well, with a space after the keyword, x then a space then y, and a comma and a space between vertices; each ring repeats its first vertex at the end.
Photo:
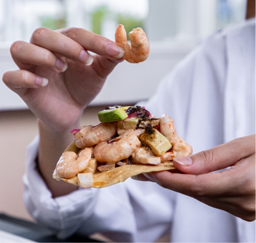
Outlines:
MULTIPOLYGON (((75 141, 68 146, 65 150, 77 153, 80 148, 77 148, 75 141)), ((127 178, 135 175, 139 175, 141 173, 149 173, 153 171, 165 171, 169 169, 176 169, 173 166, 173 162, 166 161, 159 165, 144 165, 144 164, 128 164, 127 166, 119 166, 113 169, 109 169, 109 171, 97 172, 93 174, 93 187, 102 188, 109 187, 109 185, 114 185, 119 182, 124 182, 127 178)), ((65 182, 68 182, 73 185, 77 184, 77 176, 72 178, 61 178, 65 182)))

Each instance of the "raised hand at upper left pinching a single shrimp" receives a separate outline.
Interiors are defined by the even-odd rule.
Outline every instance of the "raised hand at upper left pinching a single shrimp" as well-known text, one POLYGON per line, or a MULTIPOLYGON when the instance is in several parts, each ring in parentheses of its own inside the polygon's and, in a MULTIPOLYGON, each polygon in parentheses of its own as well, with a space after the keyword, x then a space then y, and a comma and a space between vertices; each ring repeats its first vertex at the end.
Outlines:
POLYGON ((10 51, 20 70, 6 72, 3 81, 46 127, 66 131, 99 93, 124 51, 103 36, 74 27, 40 27, 30 42, 13 43, 10 51))

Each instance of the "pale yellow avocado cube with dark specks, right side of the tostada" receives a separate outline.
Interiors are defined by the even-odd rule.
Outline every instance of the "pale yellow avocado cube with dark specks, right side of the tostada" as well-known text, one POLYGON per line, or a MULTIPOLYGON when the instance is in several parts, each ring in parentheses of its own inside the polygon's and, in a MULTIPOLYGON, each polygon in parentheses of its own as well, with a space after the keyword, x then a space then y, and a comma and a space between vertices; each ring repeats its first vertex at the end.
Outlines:
POLYGON ((140 136, 140 140, 145 145, 150 146, 152 152, 156 156, 163 155, 166 151, 172 148, 172 145, 166 137, 163 136, 158 130, 151 129, 150 132, 144 132, 140 136))

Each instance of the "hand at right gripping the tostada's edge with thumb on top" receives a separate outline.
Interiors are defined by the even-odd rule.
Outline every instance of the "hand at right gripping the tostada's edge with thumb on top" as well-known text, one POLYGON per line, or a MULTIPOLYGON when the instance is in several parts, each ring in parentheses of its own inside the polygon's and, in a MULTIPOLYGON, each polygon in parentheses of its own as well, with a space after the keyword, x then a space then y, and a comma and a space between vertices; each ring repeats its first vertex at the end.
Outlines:
POLYGON ((234 139, 191 157, 177 157, 173 164, 185 174, 161 171, 145 176, 246 221, 256 219, 256 135, 234 139))

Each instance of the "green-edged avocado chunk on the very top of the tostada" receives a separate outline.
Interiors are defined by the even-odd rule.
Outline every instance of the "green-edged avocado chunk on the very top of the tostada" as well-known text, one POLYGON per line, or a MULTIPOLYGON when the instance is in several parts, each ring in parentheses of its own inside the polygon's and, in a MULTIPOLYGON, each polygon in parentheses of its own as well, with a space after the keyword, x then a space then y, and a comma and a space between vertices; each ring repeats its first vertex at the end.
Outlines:
POLYGON ((98 113, 99 120, 101 122, 111 122, 111 121, 122 121, 128 117, 125 112, 124 107, 119 107, 116 109, 107 109, 100 111, 98 113))

